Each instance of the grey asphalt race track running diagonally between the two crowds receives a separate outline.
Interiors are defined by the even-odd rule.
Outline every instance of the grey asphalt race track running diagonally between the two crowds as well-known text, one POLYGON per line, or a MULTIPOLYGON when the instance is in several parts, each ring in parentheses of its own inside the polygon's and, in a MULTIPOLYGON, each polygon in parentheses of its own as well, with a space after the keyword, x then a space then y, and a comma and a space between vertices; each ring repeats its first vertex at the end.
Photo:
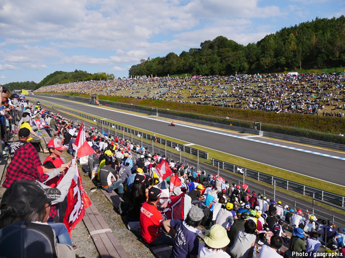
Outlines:
MULTIPOLYGON (((245 139, 224 136, 185 126, 176 125, 175 127, 172 127, 168 126, 168 124, 164 121, 125 114, 126 111, 123 111, 123 113, 114 112, 109 109, 99 109, 97 106, 85 105, 83 103, 77 104, 68 100, 50 97, 34 96, 34 98, 52 102, 68 108, 73 108, 75 110, 80 110, 82 112, 89 113, 90 115, 96 115, 111 119, 113 121, 118 121, 120 123, 139 127, 143 130, 151 131, 156 134, 166 135, 185 142, 204 146, 263 164, 286 169, 312 178, 345 186, 345 180, 343 180, 343 167, 345 165, 345 161, 341 159, 252 142, 245 139)), ((178 124, 178 122, 176 123, 178 124)), ((214 131, 221 132, 217 131, 216 129, 214 131)), ((243 136, 235 133, 230 134, 243 136)), ((256 139, 345 158, 345 153, 321 150, 286 142, 282 143, 269 139, 256 139)))

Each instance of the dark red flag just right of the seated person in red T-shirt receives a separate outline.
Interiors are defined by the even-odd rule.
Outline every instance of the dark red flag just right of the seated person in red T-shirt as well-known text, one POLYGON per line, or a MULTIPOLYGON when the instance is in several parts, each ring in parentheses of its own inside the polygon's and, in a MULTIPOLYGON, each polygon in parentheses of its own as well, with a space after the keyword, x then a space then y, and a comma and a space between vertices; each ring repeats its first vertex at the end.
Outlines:
POLYGON ((161 210, 163 220, 183 220, 185 208, 185 193, 171 196, 168 205, 161 210))

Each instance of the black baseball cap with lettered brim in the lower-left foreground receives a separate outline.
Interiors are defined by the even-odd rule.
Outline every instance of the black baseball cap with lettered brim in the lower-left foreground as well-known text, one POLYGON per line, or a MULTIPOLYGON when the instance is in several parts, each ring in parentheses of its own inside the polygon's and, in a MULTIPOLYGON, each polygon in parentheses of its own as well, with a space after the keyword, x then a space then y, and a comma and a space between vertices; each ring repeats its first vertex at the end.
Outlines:
POLYGON ((22 216, 60 196, 55 187, 43 189, 38 182, 18 180, 5 191, 0 207, 10 206, 14 210, 12 216, 22 216))

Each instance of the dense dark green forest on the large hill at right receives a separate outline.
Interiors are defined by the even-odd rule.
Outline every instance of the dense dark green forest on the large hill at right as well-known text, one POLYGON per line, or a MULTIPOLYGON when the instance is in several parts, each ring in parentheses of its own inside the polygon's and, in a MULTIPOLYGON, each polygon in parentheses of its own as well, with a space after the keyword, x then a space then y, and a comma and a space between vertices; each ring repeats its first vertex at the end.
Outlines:
POLYGON ((130 75, 231 75, 322 69, 345 65, 345 17, 285 27, 247 46, 224 36, 180 55, 142 59, 130 75))

